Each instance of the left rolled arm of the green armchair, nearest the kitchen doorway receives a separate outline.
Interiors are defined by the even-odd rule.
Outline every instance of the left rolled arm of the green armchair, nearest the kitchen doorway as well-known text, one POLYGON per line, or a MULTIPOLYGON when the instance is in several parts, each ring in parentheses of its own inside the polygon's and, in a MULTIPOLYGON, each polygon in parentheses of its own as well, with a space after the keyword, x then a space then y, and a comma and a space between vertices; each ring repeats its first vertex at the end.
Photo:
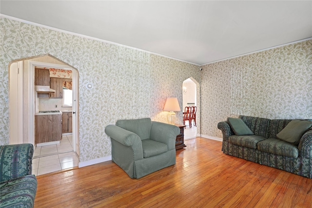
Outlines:
POLYGON ((116 125, 106 126, 105 133, 120 144, 131 147, 134 154, 136 154, 134 156, 135 159, 143 158, 142 141, 136 133, 122 129, 116 125))

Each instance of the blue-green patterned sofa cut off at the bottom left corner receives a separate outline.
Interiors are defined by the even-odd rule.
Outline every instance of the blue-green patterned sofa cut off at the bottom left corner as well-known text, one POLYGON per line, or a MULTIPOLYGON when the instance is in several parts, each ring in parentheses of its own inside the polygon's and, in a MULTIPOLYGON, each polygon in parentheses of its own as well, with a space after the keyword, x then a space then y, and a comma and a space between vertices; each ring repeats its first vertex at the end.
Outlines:
POLYGON ((0 207, 33 208, 37 179, 32 173, 32 144, 0 146, 0 207))

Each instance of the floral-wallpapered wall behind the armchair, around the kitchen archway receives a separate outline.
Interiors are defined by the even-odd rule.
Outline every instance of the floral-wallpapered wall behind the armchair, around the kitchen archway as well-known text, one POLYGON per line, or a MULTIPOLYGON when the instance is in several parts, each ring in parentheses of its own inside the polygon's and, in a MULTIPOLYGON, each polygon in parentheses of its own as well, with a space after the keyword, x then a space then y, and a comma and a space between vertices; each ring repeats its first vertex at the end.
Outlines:
POLYGON ((0 29, 0 144, 9 143, 8 65, 15 59, 51 54, 78 69, 80 162, 111 155, 106 125, 140 117, 164 121, 166 97, 176 96, 182 106, 183 81, 200 81, 198 66, 170 58, 12 19, 1 18, 0 29))

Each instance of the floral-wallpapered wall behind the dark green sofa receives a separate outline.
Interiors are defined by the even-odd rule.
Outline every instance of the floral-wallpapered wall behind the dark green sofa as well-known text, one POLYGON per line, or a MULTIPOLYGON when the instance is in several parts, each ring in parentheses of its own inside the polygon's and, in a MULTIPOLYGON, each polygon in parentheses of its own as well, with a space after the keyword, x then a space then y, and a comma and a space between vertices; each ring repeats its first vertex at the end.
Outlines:
POLYGON ((202 67, 201 133, 222 137, 219 121, 239 114, 312 118, 312 40, 202 67))

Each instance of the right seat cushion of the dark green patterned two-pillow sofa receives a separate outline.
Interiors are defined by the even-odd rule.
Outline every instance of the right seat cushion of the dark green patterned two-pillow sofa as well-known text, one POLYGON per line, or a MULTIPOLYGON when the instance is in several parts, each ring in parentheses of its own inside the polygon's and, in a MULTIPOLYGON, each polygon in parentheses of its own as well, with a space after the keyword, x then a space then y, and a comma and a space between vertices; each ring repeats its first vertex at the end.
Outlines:
POLYGON ((296 146, 278 139, 266 139, 258 143, 258 150, 286 157, 298 157, 299 150, 296 146))

